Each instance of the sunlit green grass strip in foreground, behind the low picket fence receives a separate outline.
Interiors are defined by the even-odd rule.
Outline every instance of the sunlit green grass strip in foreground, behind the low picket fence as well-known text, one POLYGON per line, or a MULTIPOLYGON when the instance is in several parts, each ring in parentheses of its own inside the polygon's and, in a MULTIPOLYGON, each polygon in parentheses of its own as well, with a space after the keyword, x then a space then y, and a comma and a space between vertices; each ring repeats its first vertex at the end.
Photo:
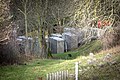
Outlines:
POLYGON ((74 60, 33 60, 27 65, 11 65, 0 67, 0 80, 35 80, 37 77, 45 77, 47 73, 60 70, 69 70, 74 72, 74 63, 85 59, 79 57, 74 60))

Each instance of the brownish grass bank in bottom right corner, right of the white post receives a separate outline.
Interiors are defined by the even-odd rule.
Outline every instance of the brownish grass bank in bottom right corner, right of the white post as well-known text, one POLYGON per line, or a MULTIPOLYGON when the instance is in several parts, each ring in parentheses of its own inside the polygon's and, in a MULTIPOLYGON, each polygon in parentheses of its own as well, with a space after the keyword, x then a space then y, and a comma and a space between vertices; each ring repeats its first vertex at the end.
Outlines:
MULTIPOLYGON (((102 66, 90 67, 79 74, 80 80, 120 80, 120 55, 113 58, 115 63, 105 62, 102 66)), ((88 66, 87 66, 88 67, 88 66)))

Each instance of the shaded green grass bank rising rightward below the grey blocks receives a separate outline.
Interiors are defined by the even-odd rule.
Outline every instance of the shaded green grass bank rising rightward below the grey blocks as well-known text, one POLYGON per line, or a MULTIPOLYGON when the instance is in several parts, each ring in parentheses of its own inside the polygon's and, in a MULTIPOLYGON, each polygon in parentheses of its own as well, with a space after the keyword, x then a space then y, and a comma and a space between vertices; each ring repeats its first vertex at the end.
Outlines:
POLYGON ((59 53, 59 54, 53 54, 53 57, 56 59, 75 59, 78 56, 87 56, 90 52, 96 53, 99 52, 102 49, 102 44, 99 40, 92 41, 91 43, 87 43, 83 46, 80 46, 78 49, 74 51, 69 51, 66 53, 59 53), (68 57, 68 54, 71 54, 72 57, 68 57))

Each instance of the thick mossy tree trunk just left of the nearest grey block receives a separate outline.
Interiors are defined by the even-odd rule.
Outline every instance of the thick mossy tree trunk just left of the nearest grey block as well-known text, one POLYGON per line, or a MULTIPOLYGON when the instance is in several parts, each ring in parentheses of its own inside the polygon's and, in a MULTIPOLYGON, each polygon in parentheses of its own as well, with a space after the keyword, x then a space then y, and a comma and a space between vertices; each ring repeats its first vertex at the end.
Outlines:
POLYGON ((36 0, 36 4, 34 7, 34 14, 35 14, 35 25, 37 26, 38 31, 38 39, 39 44, 41 47, 41 58, 47 58, 47 44, 46 44, 46 31, 47 31, 47 25, 46 25, 46 15, 47 15, 47 7, 48 7, 48 0, 40 0, 39 2, 36 0))

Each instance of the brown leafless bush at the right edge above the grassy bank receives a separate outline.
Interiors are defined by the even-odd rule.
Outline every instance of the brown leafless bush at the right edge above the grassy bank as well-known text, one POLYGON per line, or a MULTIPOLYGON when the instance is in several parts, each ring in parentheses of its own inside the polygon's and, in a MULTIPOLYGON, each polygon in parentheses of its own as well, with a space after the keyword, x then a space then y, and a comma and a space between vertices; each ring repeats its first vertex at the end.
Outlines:
POLYGON ((103 38, 104 49, 120 45, 120 24, 115 23, 113 29, 105 33, 103 38))

